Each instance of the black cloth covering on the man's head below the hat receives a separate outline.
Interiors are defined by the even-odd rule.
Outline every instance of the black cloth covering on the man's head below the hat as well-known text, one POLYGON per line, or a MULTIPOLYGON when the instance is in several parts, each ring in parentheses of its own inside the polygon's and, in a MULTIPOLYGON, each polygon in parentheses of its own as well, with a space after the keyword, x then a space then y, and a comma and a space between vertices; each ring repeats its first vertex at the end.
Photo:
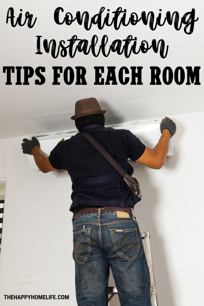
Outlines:
POLYGON ((77 130, 81 133, 82 129, 86 125, 90 124, 99 124, 104 126, 105 124, 105 117, 103 114, 94 114, 94 115, 88 115, 80 118, 75 119, 75 125, 77 130))

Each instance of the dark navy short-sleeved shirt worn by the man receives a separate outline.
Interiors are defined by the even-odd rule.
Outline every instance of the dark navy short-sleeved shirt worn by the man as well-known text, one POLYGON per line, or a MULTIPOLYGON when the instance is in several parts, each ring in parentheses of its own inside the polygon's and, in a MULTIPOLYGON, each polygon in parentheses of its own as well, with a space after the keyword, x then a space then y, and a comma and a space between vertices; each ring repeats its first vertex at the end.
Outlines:
MULTIPOLYGON (((129 130, 106 128, 101 125, 86 126, 89 133, 132 176, 133 168, 128 163, 139 159, 145 145, 129 130)), ((70 139, 59 142, 50 152, 50 164, 57 170, 65 168, 72 180, 72 205, 129 207, 140 198, 129 191, 123 177, 90 144, 77 133, 70 139)))

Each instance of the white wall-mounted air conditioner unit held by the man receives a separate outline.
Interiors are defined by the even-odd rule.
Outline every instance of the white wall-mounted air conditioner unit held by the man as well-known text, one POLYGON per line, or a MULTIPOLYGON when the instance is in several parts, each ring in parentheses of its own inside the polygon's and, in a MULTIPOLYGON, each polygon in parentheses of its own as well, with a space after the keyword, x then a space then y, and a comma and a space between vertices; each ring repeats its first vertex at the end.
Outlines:
MULTIPOLYGON (((159 138, 161 137, 161 132, 159 129, 161 120, 162 118, 150 119, 144 121, 121 123, 116 125, 106 125, 106 127, 129 130, 135 136, 137 136, 143 144, 145 144, 151 149, 154 149, 154 147, 158 143, 159 138)), ((35 136, 39 140, 40 148, 43 154, 45 156, 49 156, 52 149, 58 144, 58 142, 62 138, 67 140, 71 138, 71 136, 76 135, 77 132, 77 130, 72 130, 50 134, 39 134, 33 136, 35 136)), ((31 139, 33 136, 31 136, 29 139, 31 139)), ((173 155, 173 138, 171 138, 169 142, 168 156, 171 155, 173 155)), ((28 159, 33 170, 39 170, 39 168, 35 164, 34 157, 32 155, 28 155, 28 159)))

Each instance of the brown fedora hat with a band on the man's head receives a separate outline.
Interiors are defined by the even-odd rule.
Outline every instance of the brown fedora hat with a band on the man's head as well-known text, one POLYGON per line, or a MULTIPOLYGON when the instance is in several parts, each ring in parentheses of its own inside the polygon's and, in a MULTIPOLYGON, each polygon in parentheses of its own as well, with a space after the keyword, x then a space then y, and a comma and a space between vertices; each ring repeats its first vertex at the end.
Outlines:
POLYGON ((75 120, 80 117, 94 115, 94 114, 105 114, 106 110, 101 110, 98 101, 95 98, 88 98, 76 101, 75 103, 75 115, 71 117, 75 120))

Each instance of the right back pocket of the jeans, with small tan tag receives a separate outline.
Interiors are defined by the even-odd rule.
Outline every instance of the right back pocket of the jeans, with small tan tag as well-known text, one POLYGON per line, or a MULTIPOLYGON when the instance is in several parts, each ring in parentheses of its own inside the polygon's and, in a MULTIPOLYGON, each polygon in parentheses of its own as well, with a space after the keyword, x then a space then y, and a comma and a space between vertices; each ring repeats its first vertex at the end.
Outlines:
POLYGON ((139 253, 139 238, 137 229, 113 230, 110 235, 115 252, 126 260, 132 260, 139 253))

